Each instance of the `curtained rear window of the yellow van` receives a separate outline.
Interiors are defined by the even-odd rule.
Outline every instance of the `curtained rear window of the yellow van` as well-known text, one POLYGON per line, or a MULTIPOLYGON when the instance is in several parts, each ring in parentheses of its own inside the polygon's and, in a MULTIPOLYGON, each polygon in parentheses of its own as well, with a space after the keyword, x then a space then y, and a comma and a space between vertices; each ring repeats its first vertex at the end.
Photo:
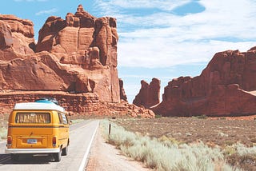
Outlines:
POLYGON ((50 113, 16 113, 16 123, 26 124, 48 124, 50 113))

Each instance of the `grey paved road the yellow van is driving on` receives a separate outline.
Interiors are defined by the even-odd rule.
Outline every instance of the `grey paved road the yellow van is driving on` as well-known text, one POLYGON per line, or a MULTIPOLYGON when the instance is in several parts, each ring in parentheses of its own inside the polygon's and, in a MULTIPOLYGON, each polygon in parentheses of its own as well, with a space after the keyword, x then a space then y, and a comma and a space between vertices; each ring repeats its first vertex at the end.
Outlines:
POLYGON ((24 156, 18 162, 10 160, 10 154, 4 153, 6 142, 0 143, 0 170, 48 171, 83 170, 86 155, 89 153, 92 137, 98 128, 98 121, 82 121, 70 126, 70 147, 62 161, 55 162, 48 156, 24 156))

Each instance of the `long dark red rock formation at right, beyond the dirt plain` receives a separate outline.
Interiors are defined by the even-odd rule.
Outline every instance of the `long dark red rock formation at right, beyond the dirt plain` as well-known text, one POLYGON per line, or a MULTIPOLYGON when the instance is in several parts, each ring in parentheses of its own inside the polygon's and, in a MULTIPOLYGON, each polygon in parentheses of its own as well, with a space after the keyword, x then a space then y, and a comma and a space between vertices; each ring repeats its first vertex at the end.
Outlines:
POLYGON ((173 79, 153 110, 163 116, 240 116, 256 113, 256 49, 214 55, 202 74, 173 79))

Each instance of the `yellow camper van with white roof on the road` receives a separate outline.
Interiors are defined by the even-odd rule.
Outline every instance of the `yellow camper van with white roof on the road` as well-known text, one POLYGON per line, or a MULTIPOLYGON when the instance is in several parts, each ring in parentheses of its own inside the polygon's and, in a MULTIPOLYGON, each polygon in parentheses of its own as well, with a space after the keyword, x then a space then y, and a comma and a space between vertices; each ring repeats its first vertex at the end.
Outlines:
POLYGON ((54 161, 61 161, 69 145, 69 121, 65 109, 55 101, 40 99, 14 105, 6 145, 13 161, 21 154, 49 154, 54 161))

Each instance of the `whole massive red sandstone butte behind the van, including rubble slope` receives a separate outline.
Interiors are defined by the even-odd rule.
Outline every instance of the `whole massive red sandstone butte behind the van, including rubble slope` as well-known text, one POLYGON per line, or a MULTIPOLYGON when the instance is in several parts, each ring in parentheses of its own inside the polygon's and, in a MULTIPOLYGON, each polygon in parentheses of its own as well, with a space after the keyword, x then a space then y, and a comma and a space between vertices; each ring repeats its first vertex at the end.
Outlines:
POLYGON ((16 102, 55 97, 70 114, 154 117, 127 102, 115 18, 95 18, 79 5, 65 19, 47 18, 38 43, 33 26, 0 14, 0 113, 16 102))

